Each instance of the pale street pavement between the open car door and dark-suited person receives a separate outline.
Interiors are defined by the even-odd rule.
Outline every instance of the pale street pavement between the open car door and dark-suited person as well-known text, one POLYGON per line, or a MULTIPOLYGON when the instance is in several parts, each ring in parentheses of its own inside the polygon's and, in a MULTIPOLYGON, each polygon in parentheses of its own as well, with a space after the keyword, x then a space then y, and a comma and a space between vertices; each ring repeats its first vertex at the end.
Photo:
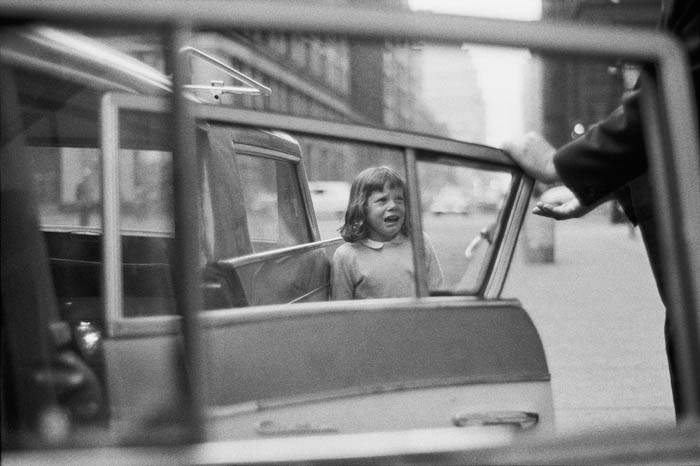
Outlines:
POLYGON ((664 311, 644 243, 607 212, 554 222, 552 263, 529 262, 521 235, 503 292, 540 332, 559 433, 675 422, 664 311))

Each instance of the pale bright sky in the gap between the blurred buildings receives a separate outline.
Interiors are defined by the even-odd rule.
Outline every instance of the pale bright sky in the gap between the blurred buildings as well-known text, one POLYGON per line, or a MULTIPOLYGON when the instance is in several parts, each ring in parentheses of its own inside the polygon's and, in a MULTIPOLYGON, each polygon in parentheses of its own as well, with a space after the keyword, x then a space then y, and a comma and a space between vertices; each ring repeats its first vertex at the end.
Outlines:
MULTIPOLYGON (((414 10, 434 13, 461 14, 501 19, 535 21, 540 18, 540 0, 410 0, 414 10)), ((526 125, 523 94, 524 82, 514 79, 523 75, 523 67, 530 56, 524 50, 470 46, 469 54, 478 71, 478 82, 486 102, 486 134, 483 141, 501 146, 506 140, 535 128, 526 125)), ((428 73, 425 79, 431 79, 428 73)), ((430 83, 426 83, 429 87, 430 83)), ((437 114, 445 115, 445 108, 437 114)), ((457 123, 459 115, 445 115, 453 128, 452 137, 462 138, 457 123)))

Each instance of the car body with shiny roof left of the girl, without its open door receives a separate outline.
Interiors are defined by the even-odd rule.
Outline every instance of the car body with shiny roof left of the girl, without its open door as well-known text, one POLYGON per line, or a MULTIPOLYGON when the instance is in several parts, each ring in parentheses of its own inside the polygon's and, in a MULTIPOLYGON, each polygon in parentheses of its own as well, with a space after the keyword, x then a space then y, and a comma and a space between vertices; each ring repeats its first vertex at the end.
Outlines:
MULTIPOLYGON (((41 292, 55 300, 49 315, 62 325, 59 342, 83 357, 74 361, 73 372, 98 381, 93 387, 72 387, 91 396, 64 411, 76 422, 113 422, 128 418, 125 410, 143 409, 142 395, 159 392, 167 404, 175 395, 175 372, 164 361, 176 338, 178 246, 173 160, 163 125, 168 104, 159 99, 171 83, 155 69, 72 31, 19 28, 6 31, 1 47, 3 83, 13 93, 4 108, 20 116, 17 129, 23 138, 21 147, 3 157, 30 167, 22 172, 29 185, 50 180, 34 194, 41 230, 35 239, 45 244, 42 262, 53 284, 41 292), (66 124, 46 125, 56 119, 66 124), (100 139, 100 125, 113 128, 114 138, 100 139), (114 176, 106 179, 108 170, 114 176), (86 184, 93 185, 90 196, 81 194, 86 184), (88 203, 81 201, 86 196, 88 203), (144 199, 144 208, 130 208, 144 199), (106 299, 111 293, 112 300, 106 299), (150 336, 137 337, 143 332, 150 336), (135 342, 145 347, 135 349, 135 342)), ((198 102, 194 95, 191 99, 198 102)), ((221 117, 209 120, 195 137, 203 309, 328 300, 329 254, 338 241, 319 241, 299 144, 281 132, 221 117)), ((16 200, 11 195, 5 200, 3 219, 8 219, 16 200)), ((22 314, 16 318, 25 319, 22 314)), ((13 318, 4 322, 6 329, 19 325, 13 318)), ((15 335, 7 338, 13 342, 15 335)), ((10 348, 12 367, 21 365, 15 359, 18 347, 10 348)), ((47 370, 59 377, 59 368, 47 370)), ((50 422, 57 412, 54 405, 35 407, 37 422, 50 422), (49 420, 42 421, 46 416, 49 420)), ((18 412, 17 422, 25 415, 18 412)))

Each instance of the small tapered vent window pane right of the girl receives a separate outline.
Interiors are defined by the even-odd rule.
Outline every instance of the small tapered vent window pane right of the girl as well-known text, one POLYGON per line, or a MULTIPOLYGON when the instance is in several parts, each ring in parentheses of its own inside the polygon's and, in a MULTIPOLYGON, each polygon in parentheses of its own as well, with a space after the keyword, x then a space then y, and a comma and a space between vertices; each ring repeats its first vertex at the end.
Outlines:
POLYGON ((423 230, 431 238, 445 288, 473 293, 481 285, 511 175, 464 165, 418 163, 423 230))

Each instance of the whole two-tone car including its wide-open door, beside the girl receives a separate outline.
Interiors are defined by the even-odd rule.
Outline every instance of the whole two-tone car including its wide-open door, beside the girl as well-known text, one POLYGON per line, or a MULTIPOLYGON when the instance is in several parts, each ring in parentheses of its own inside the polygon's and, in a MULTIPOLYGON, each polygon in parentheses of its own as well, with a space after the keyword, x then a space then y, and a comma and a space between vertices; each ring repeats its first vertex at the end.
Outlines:
MULTIPOLYGON (((160 425, 163 416, 169 419, 164 413, 179 409, 181 396, 173 389, 180 371, 172 351, 181 334, 182 285, 176 270, 183 246, 176 227, 177 198, 171 197, 180 187, 168 139, 170 107, 162 97, 172 84, 155 70, 75 32, 46 26, 13 32, 2 45, 7 57, 3 65, 7 92, 16 93, 11 105, 22 115, 18 130, 25 142, 8 157, 28 166, 30 177, 42 175, 55 182, 43 184, 46 192, 37 193, 37 240, 46 244, 46 259, 36 264, 48 267, 42 272, 48 273, 45 279, 53 283, 53 290, 43 292, 55 297, 56 320, 65 323, 70 344, 84 355, 87 367, 82 370, 96 375, 99 383, 93 388, 103 391, 100 397, 81 398, 86 405, 99 404, 94 418, 76 416, 87 410, 79 403, 57 402, 58 412, 74 421, 62 436, 79 441, 78 421, 84 420, 105 423, 104 435, 118 432, 120 441, 140 441, 149 435, 147 426, 160 425), (30 54, 28 61, 17 58, 30 54), (94 76, 83 72, 73 79, 79 64, 94 76), (129 69, 131 74, 117 74, 115 69, 129 69), (109 78, 110 85, 105 88, 98 77, 109 78), (152 86, 152 81, 158 85, 152 86), (66 123, 44 124, 52 120, 66 123), (104 131, 113 133, 104 137, 104 131), (88 220, 81 221, 82 207, 76 212, 67 206, 78 202, 73 186, 82 183, 86 167, 101 171, 90 176, 102 197, 94 200, 88 220), (151 176, 139 176, 144 171, 151 176), (143 192, 152 193, 147 209, 137 214, 125 207, 143 192)), ((332 203, 331 209, 340 211, 347 204, 347 184, 307 182, 299 144, 280 131, 285 117, 255 121, 254 115, 202 102, 196 95, 189 99, 197 121, 197 151, 190 156, 192 170, 186 176, 198 189, 194 198, 199 213, 190 218, 199 218, 191 224, 199 240, 193 265, 203 311, 197 319, 208 354, 198 364, 206 380, 202 400, 212 438, 474 423, 517 424, 523 431, 552 429, 542 344, 519 303, 498 298, 504 275, 483 276, 478 286, 492 291, 477 299, 437 308, 408 297, 400 305, 375 302, 372 306, 380 312, 368 313, 360 302, 329 305, 330 257, 342 240, 320 240, 312 193, 329 193, 327 203, 314 208, 323 212, 332 203), (463 312, 465 304, 471 312, 463 312), (267 310, 261 313, 258 308, 267 310), (435 312, 443 318, 425 325, 435 312), (519 341, 517 348, 505 344, 511 338, 519 341), (338 343, 343 341, 348 346, 340 350, 338 343), (416 354, 416 345, 423 355, 418 360, 409 357, 416 354), (448 347, 461 356, 444 359, 448 347), (476 357, 481 351, 490 356, 476 357), (389 362, 392 369, 387 371, 389 362), (500 394, 486 395, 493 390, 500 394), (409 393, 420 395, 423 406, 402 419, 399 414, 409 393), (368 409, 375 409, 372 406, 381 406, 393 420, 366 416, 368 409), (331 421, 328 412, 342 414, 331 421)), ((303 133, 305 125, 289 129, 303 133)), ((333 138, 326 134, 326 144, 348 144, 358 128, 340 125, 331 130, 333 138)), ((381 148, 378 154, 396 147, 395 165, 403 173, 415 169, 420 176, 432 177, 444 168, 459 172, 499 164, 498 170, 513 178, 494 241, 501 247, 491 248, 481 265, 486 269, 490 262, 507 262, 522 219, 512 211, 522 211, 531 186, 507 157, 497 149, 476 152, 467 143, 411 134, 401 134, 402 146, 396 146, 395 137, 393 132, 378 132, 371 142, 381 148), (412 167, 403 161, 405 147, 417 151, 412 167), (434 161, 428 150, 444 158, 434 161)), ((307 132, 305 140, 309 138, 307 132)), ((367 146, 356 152, 373 150, 367 146)), ((14 328, 13 322, 6 328, 14 328)), ((18 357, 14 350, 10 346, 11 358, 18 357)), ((6 399, 22 405, 23 394, 14 396, 6 399)), ((31 414, 41 423, 51 423, 56 404, 36 406, 31 414)), ((17 427, 11 424, 10 430, 17 427)))

